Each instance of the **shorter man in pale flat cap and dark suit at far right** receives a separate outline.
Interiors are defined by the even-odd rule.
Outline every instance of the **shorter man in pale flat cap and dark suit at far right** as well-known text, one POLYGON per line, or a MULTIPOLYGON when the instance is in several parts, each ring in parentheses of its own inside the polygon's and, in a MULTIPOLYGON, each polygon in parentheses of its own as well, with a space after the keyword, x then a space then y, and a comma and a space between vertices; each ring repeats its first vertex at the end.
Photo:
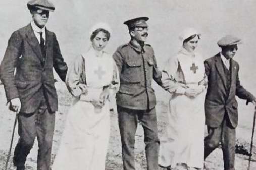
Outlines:
POLYGON ((255 103, 255 97, 246 91, 238 77, 239 65, 233 60, 241 40, 227 35, 218 41, 221 52, 204 61, 208 76, 208 89, 204 103, 208 136, 204 139, 204 159, 221 142, 224 169, 234 170, 235 128, 238 113, 235 96, 255 103))

